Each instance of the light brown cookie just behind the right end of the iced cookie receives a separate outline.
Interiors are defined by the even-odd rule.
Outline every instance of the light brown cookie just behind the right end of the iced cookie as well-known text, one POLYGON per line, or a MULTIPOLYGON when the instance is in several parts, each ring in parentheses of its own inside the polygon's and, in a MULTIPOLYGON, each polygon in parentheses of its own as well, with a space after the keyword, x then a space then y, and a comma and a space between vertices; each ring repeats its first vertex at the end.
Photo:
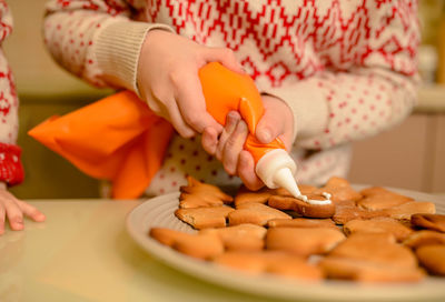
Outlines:
POLYGON ((355 191, 350 183, 342 178, 330 178, 326 185, 315 190, 314 194, 329 193, 330 200, 336 204, 355 204, 355 201, 362 199, 362 194, 355 191))

